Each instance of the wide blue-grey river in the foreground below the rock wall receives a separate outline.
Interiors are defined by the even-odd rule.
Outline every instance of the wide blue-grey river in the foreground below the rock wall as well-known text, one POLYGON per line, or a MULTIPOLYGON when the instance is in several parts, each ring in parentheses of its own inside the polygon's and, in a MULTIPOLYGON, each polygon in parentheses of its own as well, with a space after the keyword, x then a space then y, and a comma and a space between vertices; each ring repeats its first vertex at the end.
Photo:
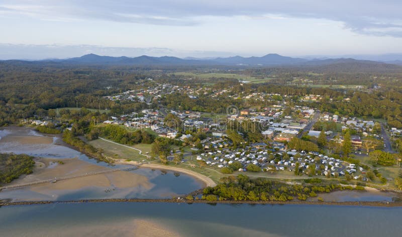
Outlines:
MULTIPOLYGON (((80 203, 0 208, 2 236, 110 236, 149 219, 181 236, 400 236, 402 208, 317 205, 80 203), (114 229, 116 228, 116 229, 114 229), (121 228, 120 228, 121 230, 121 228)), ((124 231, 118 236, 126 235, 124 231)))

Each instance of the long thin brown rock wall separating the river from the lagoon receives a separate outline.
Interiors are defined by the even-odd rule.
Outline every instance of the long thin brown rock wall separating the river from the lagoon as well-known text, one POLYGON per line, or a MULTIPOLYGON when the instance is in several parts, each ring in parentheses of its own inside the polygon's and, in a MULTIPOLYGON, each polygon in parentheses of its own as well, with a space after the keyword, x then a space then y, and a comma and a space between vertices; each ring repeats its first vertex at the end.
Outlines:
POLYGON ((113 198, 113 199, 87 199, 70 201, 19 201, 19 202, 0 202, 2 206, 37 205, 37 204, 63 204, 63 203, 117 203, 117 202, 165 202, 165 203, 205 203, 205 204, 271 204, 271 205, 338 205, 338 206, 369 206, 369 207, 402 207, 402 202, 389 201, 250 201, 250 200, 185 200, 185 199, 139 199, 139 198, 113 198))

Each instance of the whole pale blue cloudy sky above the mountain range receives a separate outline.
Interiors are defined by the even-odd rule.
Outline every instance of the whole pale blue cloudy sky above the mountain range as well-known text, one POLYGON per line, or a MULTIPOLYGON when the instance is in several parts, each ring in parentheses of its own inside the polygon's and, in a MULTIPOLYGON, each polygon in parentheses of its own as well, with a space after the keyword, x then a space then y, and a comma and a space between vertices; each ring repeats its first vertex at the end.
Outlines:
POLYGON ((0 59, 402 53, 400 0, 0 0, 0 59))

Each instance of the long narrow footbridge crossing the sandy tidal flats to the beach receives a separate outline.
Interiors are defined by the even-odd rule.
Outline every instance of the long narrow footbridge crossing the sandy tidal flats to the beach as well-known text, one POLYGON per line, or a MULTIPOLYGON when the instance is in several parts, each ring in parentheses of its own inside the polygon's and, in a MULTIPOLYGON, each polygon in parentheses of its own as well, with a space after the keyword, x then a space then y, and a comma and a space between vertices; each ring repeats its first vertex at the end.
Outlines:
POLYGON ((107 169, 107 170, 101 170, 101 171, 85 173, 85 174, 78 174, 78 175, 73 175, 73 176, 54 177, 54 178, 51 178, 51 179, 32 181, 32 182, 29 182, 29 183, 20 183, 20 184, 2 186, 2 187, 0 187, 0 191, 1 190, 6 190, 6 189, 18 189, 18 188, 23 188, 23 187, 36 185, 36 184, 41 184, 41 183, 55 183, 55 182, 60 181, 60 180, 86 177, 86 176, 96 175, 96 174, 111 173, 111 172, 116 172, 116 171, 129 171, 129 170, 135 170, 135 169, 138 169, 138 166, 124 167, 124 168, 117 168, 117 169, 107 169))

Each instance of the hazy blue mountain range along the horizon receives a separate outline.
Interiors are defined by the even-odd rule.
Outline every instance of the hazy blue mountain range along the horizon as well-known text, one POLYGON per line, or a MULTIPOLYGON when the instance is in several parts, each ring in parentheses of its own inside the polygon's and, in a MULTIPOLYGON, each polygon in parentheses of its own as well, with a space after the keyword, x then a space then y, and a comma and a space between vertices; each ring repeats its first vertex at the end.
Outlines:
MULTIPOLYGON (((6 62, 6 61, 3 61, 6 62)), ((368 60, 356 60, 352 58, 340 59, 302 59, 285 57, 278 54, 267 54, 262 57, 229 57, 229 58, 177 58, 177 57, 150 57, 140 56, 110 57, 87 54, 78 58, 70 59, 48 59, 41 61, 10 60, 9 63, 16 64, 51 64, 51 65, 127 65, 127 66, 244 66, 244 67, 297 67, 317 70, 331 70, 339 72, 353 71, 401 71, 401 61, 392 61, 392 64, 368 60)))

